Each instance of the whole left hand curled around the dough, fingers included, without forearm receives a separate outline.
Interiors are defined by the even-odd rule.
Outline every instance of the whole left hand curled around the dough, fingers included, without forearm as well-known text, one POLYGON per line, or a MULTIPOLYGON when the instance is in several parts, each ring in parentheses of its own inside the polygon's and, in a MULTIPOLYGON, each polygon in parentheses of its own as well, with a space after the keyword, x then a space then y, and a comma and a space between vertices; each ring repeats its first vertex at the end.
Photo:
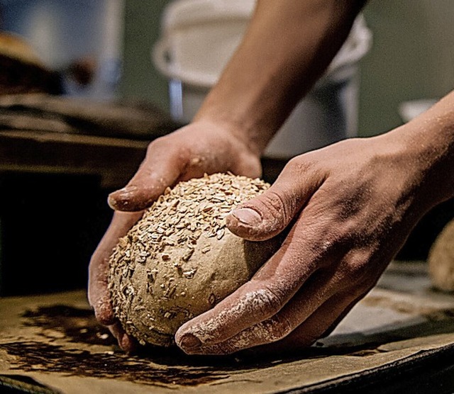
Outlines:
POLYGON ((126 235, 143 209, 150 206, 167 186, 204 173, 225 171, 260 176, 258 152, 251 150, 231 130, 212 123, 194 122, 151 142, 135 176, 126 187, 109 196, 109 205, 116 213, 89 264, 89 303, 96 318, 109 327, 123 350, 132 352, 136 344, 114 317, 107 288, 109 257, 118 238, 126 235))

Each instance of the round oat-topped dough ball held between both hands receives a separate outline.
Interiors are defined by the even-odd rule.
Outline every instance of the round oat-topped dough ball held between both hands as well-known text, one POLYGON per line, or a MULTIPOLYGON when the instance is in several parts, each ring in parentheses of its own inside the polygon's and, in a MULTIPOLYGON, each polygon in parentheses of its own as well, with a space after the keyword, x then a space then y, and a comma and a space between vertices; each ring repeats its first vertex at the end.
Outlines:
POLYGON ((279 248, 226 227, 228 213, 268 184, 232 174, 180 182, 145 211, 110 259, 114 313, 140 344, 170 346, 178 328, 233 293, 279 248))

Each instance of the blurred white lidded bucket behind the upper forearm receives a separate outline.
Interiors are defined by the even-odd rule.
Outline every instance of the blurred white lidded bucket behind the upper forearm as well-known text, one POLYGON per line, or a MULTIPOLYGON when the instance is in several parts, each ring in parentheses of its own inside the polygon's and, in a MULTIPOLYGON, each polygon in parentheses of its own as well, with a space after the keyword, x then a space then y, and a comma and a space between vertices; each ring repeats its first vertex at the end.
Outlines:
MULTIPOLYGON (((153 62, 169 79, 175 120, 192 120, 243 38, 254 7, 254 0, 177 0, 167 6, 153 62)), ((289 159, 357 135, 358 62, 371 41, 359 16, 326 74, 268 145, 266 157, 289 159)))

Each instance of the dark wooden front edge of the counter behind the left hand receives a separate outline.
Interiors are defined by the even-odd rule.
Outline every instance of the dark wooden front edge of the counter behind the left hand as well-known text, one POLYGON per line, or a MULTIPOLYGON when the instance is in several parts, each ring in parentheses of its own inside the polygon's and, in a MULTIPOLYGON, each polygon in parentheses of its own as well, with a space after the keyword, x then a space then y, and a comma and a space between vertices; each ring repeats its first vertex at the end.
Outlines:
POLYGON ((0 171, 87 174, 101 187, 128 183, 145 157, 147 141, 28 130, 0 133, 0 171))

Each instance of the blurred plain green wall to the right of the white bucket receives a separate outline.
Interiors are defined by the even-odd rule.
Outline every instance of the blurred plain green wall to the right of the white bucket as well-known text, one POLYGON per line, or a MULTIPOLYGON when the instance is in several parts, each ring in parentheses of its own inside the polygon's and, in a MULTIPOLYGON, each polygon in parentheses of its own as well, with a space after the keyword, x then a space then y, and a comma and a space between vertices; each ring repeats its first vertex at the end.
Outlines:
POLYGON ((454 88, 454 1, 375 0, 365 17, 374 43, 361 64, 360 134, 375 135, 402 124, 402 101, 454 88))

